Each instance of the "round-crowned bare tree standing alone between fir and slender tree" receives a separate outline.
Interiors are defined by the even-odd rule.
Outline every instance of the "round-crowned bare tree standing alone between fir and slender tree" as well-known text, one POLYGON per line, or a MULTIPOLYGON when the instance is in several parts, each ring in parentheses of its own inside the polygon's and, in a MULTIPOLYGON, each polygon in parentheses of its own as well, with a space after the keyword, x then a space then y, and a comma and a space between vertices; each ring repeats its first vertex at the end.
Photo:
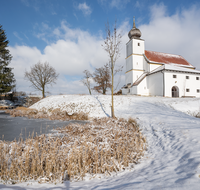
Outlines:
POLYGON ((42 91, 43 98, 45 97, 45 87, 55 83, 58 74, 49 63, 38 62, 31 67, 30 72, 25 71, 25 79, 31 82, 31 86, 36 90, 42 91))

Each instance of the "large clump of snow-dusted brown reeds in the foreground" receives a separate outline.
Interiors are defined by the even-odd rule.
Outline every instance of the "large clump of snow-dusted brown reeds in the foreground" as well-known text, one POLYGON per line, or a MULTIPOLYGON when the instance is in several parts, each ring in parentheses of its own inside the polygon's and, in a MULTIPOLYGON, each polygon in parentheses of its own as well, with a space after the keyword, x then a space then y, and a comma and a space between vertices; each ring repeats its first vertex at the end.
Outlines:
POLYGON ((145 138, 133 121, 94 119, 57 128, 56 135, 0 141, 0 181, 83 180, 132 168, 146 149, 145 138))

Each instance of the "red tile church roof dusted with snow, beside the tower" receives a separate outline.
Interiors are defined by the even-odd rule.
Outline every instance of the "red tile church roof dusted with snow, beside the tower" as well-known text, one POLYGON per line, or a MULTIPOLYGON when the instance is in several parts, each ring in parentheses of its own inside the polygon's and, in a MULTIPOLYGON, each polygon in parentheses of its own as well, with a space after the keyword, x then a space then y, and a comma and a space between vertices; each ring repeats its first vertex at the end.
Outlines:
POLYGON ((165 63, 165 64, 173 63, 183 66, 194 67, 180 55, 173 55, 168 53, 160 53, 160 52, 145 50, 145 56, 150 62, 165 63))

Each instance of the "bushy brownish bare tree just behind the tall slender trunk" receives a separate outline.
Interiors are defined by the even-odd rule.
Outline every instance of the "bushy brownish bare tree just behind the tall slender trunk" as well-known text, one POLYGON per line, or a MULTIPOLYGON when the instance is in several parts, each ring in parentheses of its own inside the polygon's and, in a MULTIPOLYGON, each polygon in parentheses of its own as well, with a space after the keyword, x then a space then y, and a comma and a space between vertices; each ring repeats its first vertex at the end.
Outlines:
POLYGON ((93 79, 98 84, 98 86, 95 86, 93 89, 99 93, 106 94, 107 88, 111 88, 109 65, 106 64, 101 68, 96 68, 93 79))

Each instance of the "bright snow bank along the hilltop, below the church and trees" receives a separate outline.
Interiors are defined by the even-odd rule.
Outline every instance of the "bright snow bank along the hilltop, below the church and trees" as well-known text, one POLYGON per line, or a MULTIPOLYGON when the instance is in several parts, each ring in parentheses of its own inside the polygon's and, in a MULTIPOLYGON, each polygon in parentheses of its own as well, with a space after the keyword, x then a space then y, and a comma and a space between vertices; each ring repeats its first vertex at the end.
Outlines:
MULTIPOLYGON (((175 110, 196 115, 200 112, 199 98, 163 98, 163 97, 138 97, 138 96, 114 96, 115 115, 117 117, 133 117, 129 108, 134 102, 162 104, 175 110), (122 115, 123 112, 123 115, 122 115)), ((76 112, 88 113, 89 117, 110 117, 111 96, 110 95, 58 95, 45 98, 30 108, 38 111, 51 112, 53 109, 67 111, 69 114, 76 112)), ((133 107, 134 109, 134 107, 133 107)))

